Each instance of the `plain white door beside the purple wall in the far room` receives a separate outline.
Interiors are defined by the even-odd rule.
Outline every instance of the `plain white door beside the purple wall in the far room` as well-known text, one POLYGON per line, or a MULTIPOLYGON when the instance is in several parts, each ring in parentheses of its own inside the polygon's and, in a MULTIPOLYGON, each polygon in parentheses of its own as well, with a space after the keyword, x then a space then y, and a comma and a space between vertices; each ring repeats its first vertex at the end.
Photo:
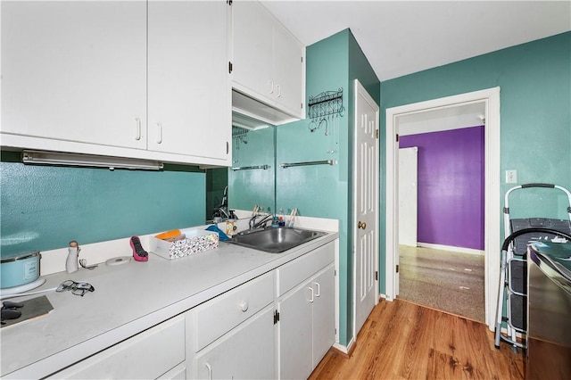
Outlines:
MULTIPOLYGON (((418 147, 399 149, 399 244, 417 246, 418 147)), ((398 275, 397 275, 398 276, 398 275)))

